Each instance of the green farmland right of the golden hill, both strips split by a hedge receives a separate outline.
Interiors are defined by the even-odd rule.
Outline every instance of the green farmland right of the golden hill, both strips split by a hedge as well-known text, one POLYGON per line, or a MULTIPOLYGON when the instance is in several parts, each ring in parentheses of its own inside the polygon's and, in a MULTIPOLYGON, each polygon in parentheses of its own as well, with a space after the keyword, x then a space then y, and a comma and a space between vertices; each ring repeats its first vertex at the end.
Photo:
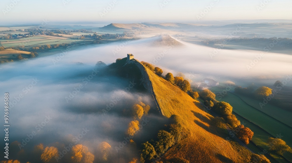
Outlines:
MULTIPOLYGON (((289 126, 291 125, 291 118, 289 118, 291 117, 291 112, 273 107, 269 104, 265 106, 266 110, 260 109, 260 107, 257 107, 258 101, 246 97, 239 97, 230 92, 220 101, 230 103, 237 118, 246 123, 246 127, 251 128, 254 132, 252 141, 256 145, 263 149, 268 149, 267 139, 269 137, 283 136, 281 139, 286 141, 288 146, 292 146, 290 139, 292 137, 292 128, 289 126)), ((276 157, 276 154, 273 154, 273 156, 276 157)), ((284 157, 292 160, 291 153, 285 153, 284 157)))

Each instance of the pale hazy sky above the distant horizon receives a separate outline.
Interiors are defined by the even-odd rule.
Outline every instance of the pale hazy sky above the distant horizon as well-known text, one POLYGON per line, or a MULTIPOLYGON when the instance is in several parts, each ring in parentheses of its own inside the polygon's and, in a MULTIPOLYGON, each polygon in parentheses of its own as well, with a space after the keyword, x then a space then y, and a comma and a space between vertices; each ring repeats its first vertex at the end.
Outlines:
POLYGON ((292 19, 291 0, 2 0, 0 21, 178 22, 204 20, 292 19), (17 1, 13 5, 12 1, 17 1), (109 3, 114 6, 110 7, 109 3), (213 7, 211 6, 213 3, 213 7), (261 5, 262 3, 262 5, 261 5), (165 4, 165 5, 163 5, 165 4), (7 6, 12 6, 7 8, 7 6), (206 9, 206 6, 209 10, 206 9), (108 13, 104 13, 108 8, 108 13), (6 12, 7 11, 7 12, 6 12))

